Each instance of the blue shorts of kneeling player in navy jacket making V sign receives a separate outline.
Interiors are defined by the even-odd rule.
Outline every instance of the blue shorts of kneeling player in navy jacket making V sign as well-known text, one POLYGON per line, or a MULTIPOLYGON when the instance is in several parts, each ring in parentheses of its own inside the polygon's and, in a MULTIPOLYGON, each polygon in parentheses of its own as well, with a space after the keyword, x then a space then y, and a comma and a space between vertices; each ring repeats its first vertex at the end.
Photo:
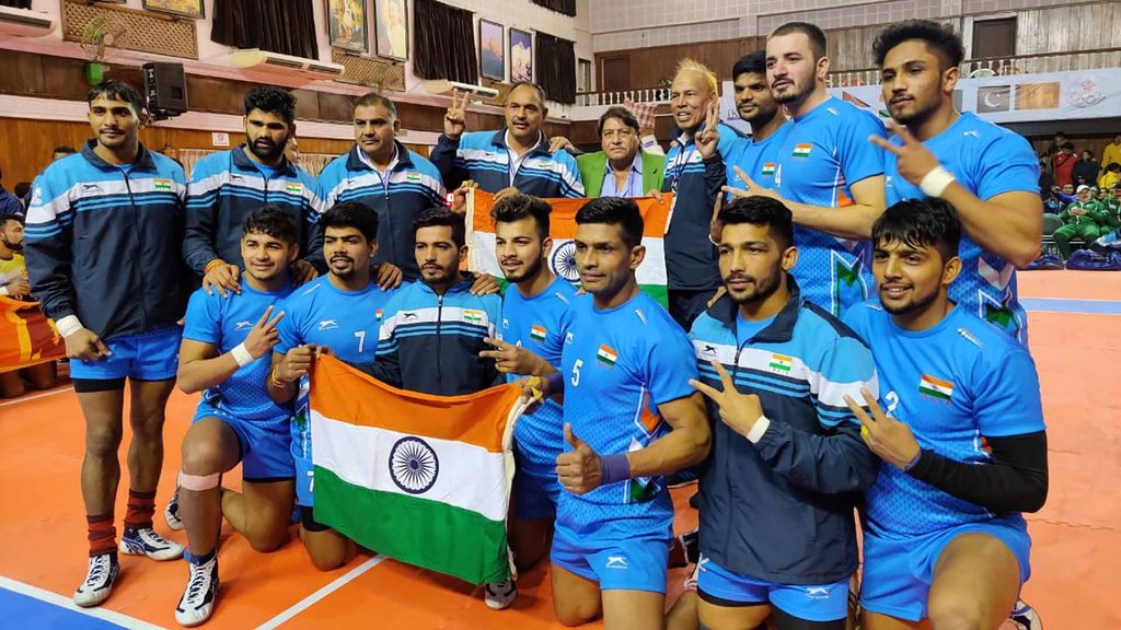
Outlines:
POLYGON ((719 606, 770 604, 806 621, 836 621, 849 614, 849 578, 832 584, 780 584, 728 571, 712 558, 697 563, 697 596, 719 606))

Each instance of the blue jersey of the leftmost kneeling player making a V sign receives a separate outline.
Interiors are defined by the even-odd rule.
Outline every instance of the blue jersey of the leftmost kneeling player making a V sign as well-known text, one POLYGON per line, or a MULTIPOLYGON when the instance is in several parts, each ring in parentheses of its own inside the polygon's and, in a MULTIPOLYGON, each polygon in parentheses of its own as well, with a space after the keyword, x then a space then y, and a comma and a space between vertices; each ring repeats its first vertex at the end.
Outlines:
MULTIPOLYGON (((259 291, 248 281, 241 282, 240 294, 230 294, 229 297, 222 297, 217 291, 206 295, 206 291, 198 289, 187 304, 183 339, 213 344, 219 353, 230 352, 245 341, 249 331, 269 306, 274 307, 272 317, 279 314, 284 309, 280 302, 290 293, 291 287, 288 286, 274 293, 259 291)), ((207 388, 203 392, 203 400, 239 419, 276 424, 282 429, 291 410, 269 398, 265 382, 270 368, 271 356, 266 354, 239 368, 221 383, 207 388)))

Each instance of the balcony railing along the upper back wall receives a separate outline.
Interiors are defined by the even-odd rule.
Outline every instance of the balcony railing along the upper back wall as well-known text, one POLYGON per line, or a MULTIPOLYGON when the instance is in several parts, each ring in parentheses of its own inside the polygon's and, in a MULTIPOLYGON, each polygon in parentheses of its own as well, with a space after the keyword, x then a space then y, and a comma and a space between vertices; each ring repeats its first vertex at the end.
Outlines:
MULTIPOLYGON (((961 67, 963 78, 1121 67, 1121 48, 967 59, 961 67)), ((880 71, 878 68, 836 71, 831 72, 826 81, 830 87, 878 85, 880 71)), ((619 92, 580 92, 576 94, 576 105, 622 105, 627 101, 667 103, 669 102, 669 89, 638 87, 619 92)))

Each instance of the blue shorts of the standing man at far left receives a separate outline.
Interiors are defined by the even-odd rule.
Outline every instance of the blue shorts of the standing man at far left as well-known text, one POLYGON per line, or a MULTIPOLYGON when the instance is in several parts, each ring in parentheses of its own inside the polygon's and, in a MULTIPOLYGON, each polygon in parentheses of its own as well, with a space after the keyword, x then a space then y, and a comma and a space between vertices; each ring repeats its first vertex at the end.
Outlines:
POLYGON ((126 377, 141 381, 166 381, 179 369, 179 340, 183 328, 175 326, 152 333, 124 335, 105 342, 109 356, 96 361, 71 361, 71 378, 114 380, 126 377))

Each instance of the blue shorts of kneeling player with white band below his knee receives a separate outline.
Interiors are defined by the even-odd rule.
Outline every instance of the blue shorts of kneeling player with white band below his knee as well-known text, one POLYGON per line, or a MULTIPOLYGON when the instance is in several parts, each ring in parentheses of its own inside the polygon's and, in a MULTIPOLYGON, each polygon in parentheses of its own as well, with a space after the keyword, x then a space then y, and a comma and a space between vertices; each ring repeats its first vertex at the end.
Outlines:
POLYGON ((243 420, 229 411, 214 407, 205 399, 198 401, 192 423, 203 418, 217 418, 233 429, 241 452, 241 478, 249 482, 285 481, 295 476, 291 457, 291 436, 287 424, 277 420, 243 420), (282 430, 277 430, 282 427, 282 430))

